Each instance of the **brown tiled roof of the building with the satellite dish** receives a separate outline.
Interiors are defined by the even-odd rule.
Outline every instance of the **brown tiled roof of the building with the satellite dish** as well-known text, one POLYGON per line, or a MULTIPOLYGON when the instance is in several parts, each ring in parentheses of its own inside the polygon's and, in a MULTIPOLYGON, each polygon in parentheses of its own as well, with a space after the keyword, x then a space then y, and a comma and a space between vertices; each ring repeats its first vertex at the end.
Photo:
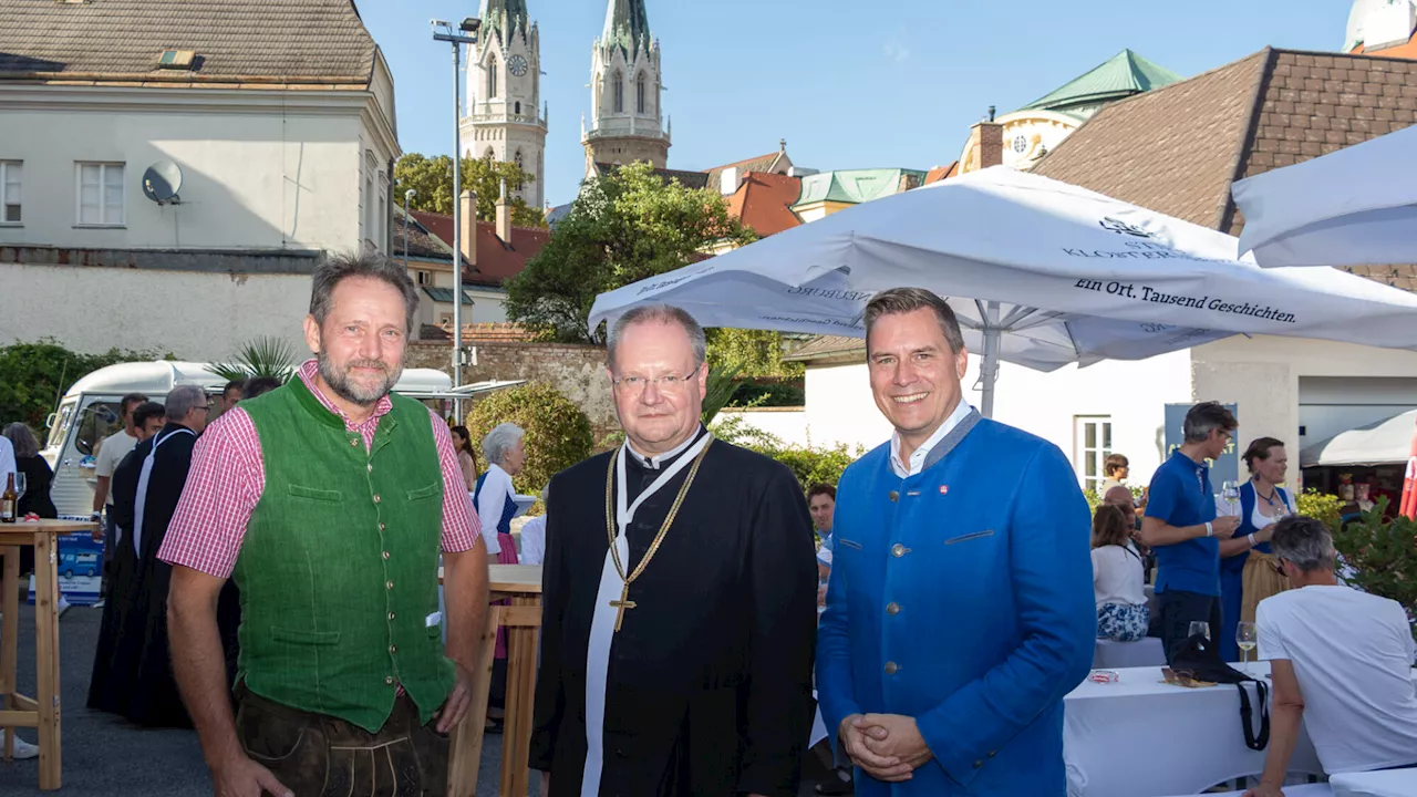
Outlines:
POLYGON ((374 38, 351 0, 0 0, 0 79, 366 87, 374 38), (193 69, 159 69, 164 50, 193 69))

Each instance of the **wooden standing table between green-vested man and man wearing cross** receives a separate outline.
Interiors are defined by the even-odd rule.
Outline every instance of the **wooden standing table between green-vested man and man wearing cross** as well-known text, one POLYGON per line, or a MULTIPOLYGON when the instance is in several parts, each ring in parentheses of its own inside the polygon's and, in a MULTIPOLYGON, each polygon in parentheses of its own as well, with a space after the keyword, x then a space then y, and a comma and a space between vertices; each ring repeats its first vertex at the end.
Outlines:
MULTIPOLYGON (((442 572, 438 573, 442 583, 442 572)), ((507 630, 507 705, 502 723, 502 797, 526 797, 531 786, 527 756, 531 752, 531 710, 536 702, 537 642, 541 628, 541 566, 492 564, 492 600, 478 647, 473 672, 472 708, 452 739, 448 766, 449 797, 473 797, 478 791, 478 764, 482 762, 483 726, 487 718, 487 691, 492 686, 492 659, 497 628, 507 630)))

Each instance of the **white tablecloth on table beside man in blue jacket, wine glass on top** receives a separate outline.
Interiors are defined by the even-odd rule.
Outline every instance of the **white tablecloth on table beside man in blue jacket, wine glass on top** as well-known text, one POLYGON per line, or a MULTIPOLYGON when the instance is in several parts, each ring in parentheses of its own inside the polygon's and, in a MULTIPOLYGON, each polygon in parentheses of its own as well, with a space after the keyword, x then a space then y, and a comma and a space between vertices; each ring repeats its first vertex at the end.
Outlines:
MULTIPOLYGON (((1257 662, 1251 668, 1265 674, 1270 665, 1257 662)), ((1084 681, 1064 701, 1063 752, 1070 794, 1199 794, 1264 770, 1265 753, 1244 745, 1240 695, 1233 685, 1169 686, 1159 667, 1118 672, 1117 684, 1084 681)), ((1254 684, 1246 688, 1254 702, 1254 684)), ((1306 733, 1295 745, 1289 771, 1323 771, 1306 733)))

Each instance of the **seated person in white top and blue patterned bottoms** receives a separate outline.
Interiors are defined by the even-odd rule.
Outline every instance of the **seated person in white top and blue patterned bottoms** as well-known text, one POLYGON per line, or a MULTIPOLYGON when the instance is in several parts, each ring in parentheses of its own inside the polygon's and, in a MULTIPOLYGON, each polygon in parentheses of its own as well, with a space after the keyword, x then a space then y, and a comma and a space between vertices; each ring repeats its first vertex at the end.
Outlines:
POLYGON ((1097 638, 1135 642, 1146 635, 1142 557, 1132 546, 1132 526, 1121 509, 1101 505, 1093 515, 1093 597, 1097 600, 1097 638))

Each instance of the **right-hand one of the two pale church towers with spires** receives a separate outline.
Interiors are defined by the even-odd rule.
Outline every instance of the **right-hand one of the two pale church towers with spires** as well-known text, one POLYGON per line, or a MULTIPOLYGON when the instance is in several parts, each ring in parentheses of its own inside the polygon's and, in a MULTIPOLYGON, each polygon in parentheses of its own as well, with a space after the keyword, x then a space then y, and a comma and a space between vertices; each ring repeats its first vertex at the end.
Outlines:
POLYGON ((591 47, 591 125, 581 122, 587 177, 597 163, 665 167, 670 130, 660 113, 659 57, 645 0, 609 0, 605 30, 591 47))

